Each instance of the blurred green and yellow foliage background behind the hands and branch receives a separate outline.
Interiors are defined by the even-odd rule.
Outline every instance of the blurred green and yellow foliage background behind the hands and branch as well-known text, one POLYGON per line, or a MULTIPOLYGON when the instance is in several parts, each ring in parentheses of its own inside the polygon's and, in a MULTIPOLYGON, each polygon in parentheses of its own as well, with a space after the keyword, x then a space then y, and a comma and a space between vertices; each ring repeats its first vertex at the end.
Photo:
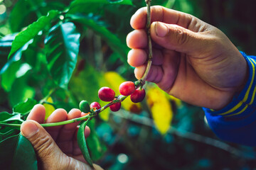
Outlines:
MULTIPOLYGON (((51 43, 48 35, 58 35, 47 27, 57 21, 7 60, 16 33, 50 10, 65 11, 71 2, 0 0, 0 111, 11 113, 18 103, 28 102, 27 98, 32 103, 45 98, 48 115, 55 108, 70 111, 78 108, 83 99, 99 101, 97 90, 101 86, 118 91, 122 81, 135 80, 133 68, 126 61, 129 49, 125 38, 132 30, 129 19, 145 6, 143 0, 133 0, 132 6, 114 3, 75 6, 82 2, 77 0, 69 8, 70 16, 59 16, 58 23, 72 21, 80 33, 79 53, 72 76, 66 78, 68 83, 63 83, 63 79, 56 83, 53 75, 56 70, 49 68, 50 63, 46 61, 47 53, 52 50, 47 45, 51 43)), ((239 50, 256 54, 253 18, 256 11, 252 0, 152 0, 152 4, 191 13, 222 30, 239 50)), ((63 28, 70 27, 64 24, 63 28)), ((146 84, 146 99, 142 103, 134 104, 127 99, 121 111, 104 111, 89 126, 97 136, 97 140, 89 141, 92 159, 105 169, 247 170, 256 167, 254 148, 220 141, 208 128, 201 108, 167 96, 154 84, 146 84)))

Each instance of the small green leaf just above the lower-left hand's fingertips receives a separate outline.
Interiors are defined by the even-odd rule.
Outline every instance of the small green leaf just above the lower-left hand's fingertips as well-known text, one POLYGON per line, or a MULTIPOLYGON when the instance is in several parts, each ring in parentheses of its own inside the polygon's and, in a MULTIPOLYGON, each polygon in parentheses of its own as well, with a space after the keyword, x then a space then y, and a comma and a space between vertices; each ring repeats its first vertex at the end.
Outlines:
POLYGON ((28 113, 29 111, 31 111, 33 106, 36 105, 36 103, 36 100, 32 98, 27 98, 26 101, 16 104, 16 106, 14 106, 13 108, 13 111, 21 114, 28 113))

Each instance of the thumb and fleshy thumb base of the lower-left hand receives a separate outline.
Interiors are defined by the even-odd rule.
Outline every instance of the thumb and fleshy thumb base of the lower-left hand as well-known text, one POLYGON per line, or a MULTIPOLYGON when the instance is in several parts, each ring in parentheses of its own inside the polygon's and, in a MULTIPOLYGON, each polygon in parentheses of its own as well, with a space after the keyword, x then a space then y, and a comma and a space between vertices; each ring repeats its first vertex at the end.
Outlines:
MULTIPOLYGON (((31 142, 41 169, 91 169, 89 165, 64 154, 50 134, 34 120, 26 120, 21 124, 21 135, 31 142)), ((94 168, 101 170, 96 164, 94 168)))

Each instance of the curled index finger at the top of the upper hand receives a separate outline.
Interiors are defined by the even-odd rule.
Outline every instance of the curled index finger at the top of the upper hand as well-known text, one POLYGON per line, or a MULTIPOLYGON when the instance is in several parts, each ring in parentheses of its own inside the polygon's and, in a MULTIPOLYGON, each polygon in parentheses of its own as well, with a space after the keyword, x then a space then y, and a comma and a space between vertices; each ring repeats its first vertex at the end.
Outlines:
MULTIPOLYGON (((199 20, 188 13, 175 11, 165 8, 164 6, 151 6, 151 23, 161 21, 163 23, 176 24, 183 28, 188 28, 193 19, 195 19, 194 21, 199 20)), ((130 24, 134 29, 144 29, 146 27, 146 7, 139 8, 139 10, 134 13, 130 24)))

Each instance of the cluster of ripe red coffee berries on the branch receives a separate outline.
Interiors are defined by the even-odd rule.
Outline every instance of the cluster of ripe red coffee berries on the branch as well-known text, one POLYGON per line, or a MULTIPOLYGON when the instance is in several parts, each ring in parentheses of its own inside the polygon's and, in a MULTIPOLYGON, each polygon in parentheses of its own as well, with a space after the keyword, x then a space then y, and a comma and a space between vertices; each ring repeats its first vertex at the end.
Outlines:
MULTIPOLYGON (((119 86, 119 93, 122 96, 130 96, 132 102, 138 103, 141 102, 145 97, 145 90, 142 89, 141 86, 136 88, 134 85, 134 82, 132 81, 125 81, 119 86)), ((100 100, 102 101, 112 101, 114 102, 115 99, 117 99, 117 96, 115 96, 115 93, 112 89, 109 87, 102 87, 98 91, 98 96, 100 100)), ((110 106, 111 111, 119 111, 121 108, 121 101, 114 102, 110 106)))

